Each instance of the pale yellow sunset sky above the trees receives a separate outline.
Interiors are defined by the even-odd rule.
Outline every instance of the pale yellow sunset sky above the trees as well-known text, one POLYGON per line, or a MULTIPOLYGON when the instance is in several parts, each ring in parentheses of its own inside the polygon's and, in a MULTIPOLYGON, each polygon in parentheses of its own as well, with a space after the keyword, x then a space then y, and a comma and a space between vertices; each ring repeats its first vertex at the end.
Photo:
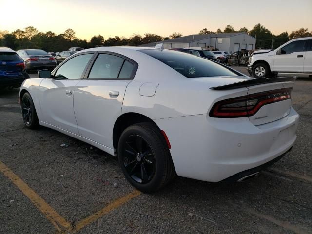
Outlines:
POLYGON ((0 0, 0 12, 0 31, 34 26, 59 34, 72 28, 87 40, 98 34, 186 36, 227 24, 251 30, 261 23, 273 34, 312 31, 312 0, 0 0))

